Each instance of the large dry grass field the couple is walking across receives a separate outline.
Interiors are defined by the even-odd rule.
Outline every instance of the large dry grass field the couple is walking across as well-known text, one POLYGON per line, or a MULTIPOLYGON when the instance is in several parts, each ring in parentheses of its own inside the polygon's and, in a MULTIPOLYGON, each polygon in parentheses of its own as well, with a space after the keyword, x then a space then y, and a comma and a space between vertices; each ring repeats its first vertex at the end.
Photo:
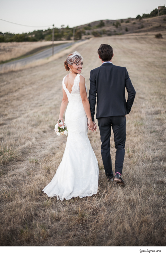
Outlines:
MULTIPOLYGON (((98 193, 57 201, 41 190, 62 159, 66 136, 56 136, 67 55, 0 75, 0 245, 166 246, 166 32, 94 38, 76 48, 83 76, 101 65, 101 43, 114 50, 136 90, 126 117, 124 187, 108 183, 99 129, 88 132, 99 163, 98 193)), ((111 154, 115 161, 114 140, 111 154)))

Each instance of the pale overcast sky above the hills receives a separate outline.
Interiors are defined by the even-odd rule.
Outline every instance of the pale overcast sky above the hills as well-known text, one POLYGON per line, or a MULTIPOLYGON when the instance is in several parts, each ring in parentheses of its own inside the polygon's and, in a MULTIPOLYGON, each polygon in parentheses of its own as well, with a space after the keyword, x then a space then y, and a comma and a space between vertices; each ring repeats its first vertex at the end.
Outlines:
POLYGON ((96 20, 116 20, 150 13, 166 0, 0 0, 0 19, 36 26, 24 27, 0 20, 0 31, 11 33, 83 25, 96 20), (39 26, 39 27, 38 27, 39 26), (40 27, 43 26, 43 27, 40 27))

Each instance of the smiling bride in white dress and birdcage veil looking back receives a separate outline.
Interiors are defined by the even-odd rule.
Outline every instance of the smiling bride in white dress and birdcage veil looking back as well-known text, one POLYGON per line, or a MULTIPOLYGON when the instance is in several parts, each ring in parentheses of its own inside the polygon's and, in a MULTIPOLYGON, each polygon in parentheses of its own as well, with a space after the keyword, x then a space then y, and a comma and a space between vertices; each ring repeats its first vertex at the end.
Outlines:
POLYGON ((74 52, 67 56, 64 66, 70 73, 63 78, 63 99, 60 106, 60 120, 67 103, 65 122, 68 137, 62 161, 51 182, 42 190, 49 197, 66 200, 79 196, 92 196, 98 190, 98 162, 88 139, 88 127, 96 130, 92 121, 87 98, 85 78, 81 75, 83 57, 74 52))

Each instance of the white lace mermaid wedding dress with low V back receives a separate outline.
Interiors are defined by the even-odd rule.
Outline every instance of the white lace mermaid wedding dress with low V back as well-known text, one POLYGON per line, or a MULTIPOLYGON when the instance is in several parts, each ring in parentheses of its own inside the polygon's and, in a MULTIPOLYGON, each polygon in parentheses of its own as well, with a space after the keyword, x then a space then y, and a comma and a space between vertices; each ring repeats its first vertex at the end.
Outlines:
POLYGON ((62 82, 69 100, 65 113, 68 137, 62 161, 51 182, 42 190, 49 197, 57 196, 57 200, 92 196, 98 190, 98 162, 87 135, 88 120, 79 82, 77 74, 71 93, 65 86, 65 77, 62 82))

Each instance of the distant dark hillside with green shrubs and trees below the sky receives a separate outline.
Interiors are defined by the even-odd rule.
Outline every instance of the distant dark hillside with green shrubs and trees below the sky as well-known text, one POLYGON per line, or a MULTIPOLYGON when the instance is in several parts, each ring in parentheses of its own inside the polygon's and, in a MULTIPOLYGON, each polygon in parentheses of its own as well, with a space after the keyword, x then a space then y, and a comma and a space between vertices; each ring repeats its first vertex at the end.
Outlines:
MULTIPOLYGON (((54 28, 54 41, 72 40, 73 29, 64 25, 54 28)), ((166 7, 159 11, 154 9, 150 14, 137 15, 136 18, 120 20, 100 20, 84 24, 75 28, 75 40, 88 39, 90 37, 102 37, 123 35, 129 33, 161 31, 166 29, 166 7)), ((52 28, 35 30, 29 33, 12 34, 0 32, 0 42, 37 42, 52 41, 52 28)))

